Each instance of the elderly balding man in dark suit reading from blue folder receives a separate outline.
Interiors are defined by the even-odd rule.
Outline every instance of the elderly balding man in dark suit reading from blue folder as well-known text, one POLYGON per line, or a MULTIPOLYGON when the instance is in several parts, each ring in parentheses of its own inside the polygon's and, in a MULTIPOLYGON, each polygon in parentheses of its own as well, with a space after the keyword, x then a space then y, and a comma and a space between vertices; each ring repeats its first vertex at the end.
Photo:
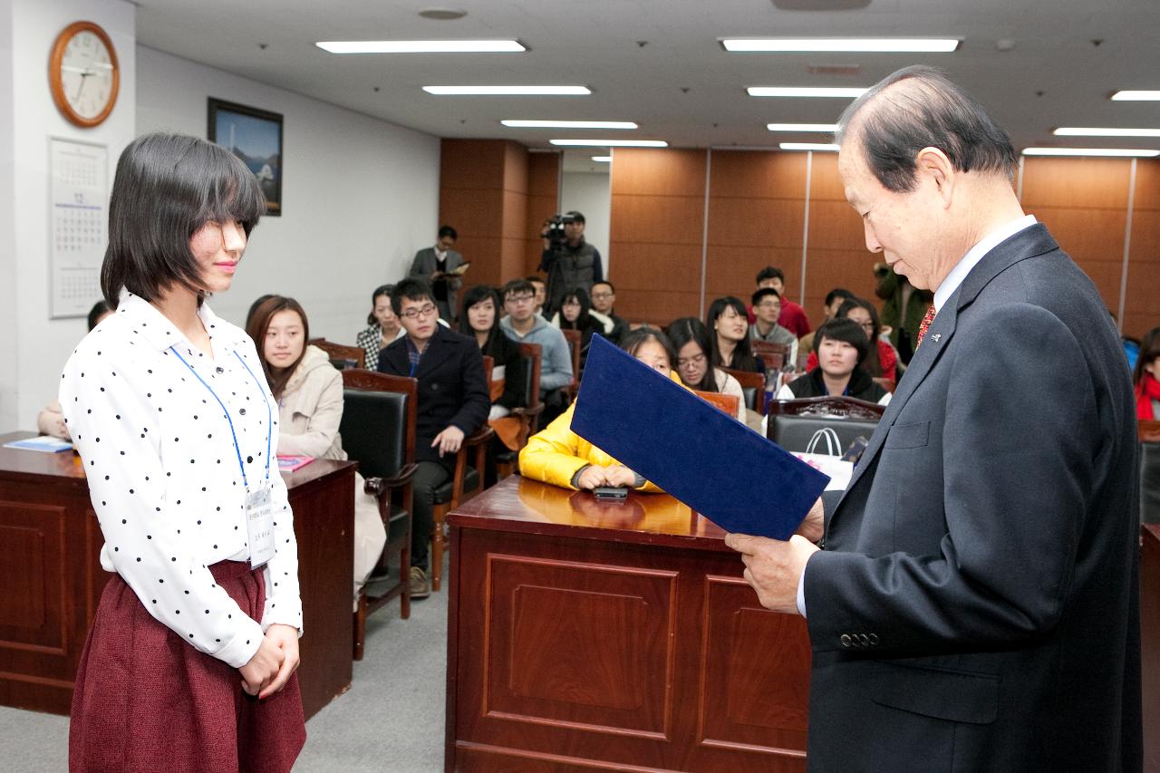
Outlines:
POLYGON ((1136 427, 1092 281, 1010 186, 1006 132, 899 71, 839 123, 867 246, 935 313, 838 500, 730 535, 807 619, 814 771, 1139 771, 1136 427), (824 534, 822 534, 824 526, 824 534))

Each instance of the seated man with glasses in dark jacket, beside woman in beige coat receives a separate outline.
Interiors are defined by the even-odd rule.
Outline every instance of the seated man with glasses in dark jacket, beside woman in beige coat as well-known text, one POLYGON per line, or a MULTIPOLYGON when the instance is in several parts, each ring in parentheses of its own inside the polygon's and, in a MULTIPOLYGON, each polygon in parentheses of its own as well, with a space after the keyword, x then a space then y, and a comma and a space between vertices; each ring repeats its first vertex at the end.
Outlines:
POLYGON ((383 349, 378 370, 419 381, 409 581, 411 598, 423 599, 430 595, 427 543, 435 491, 454 475, 464 439, 487 420, 491 396, 479 346, 438 324, 426 282, 408 277, 396 284, 391 306, 407 334, 383 349))

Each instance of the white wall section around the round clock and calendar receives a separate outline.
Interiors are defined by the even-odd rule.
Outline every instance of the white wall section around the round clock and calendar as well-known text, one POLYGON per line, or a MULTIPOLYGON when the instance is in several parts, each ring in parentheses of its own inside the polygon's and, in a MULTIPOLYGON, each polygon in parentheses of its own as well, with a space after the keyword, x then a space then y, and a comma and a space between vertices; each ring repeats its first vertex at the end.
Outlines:
MULTIPOLYGON (((8 0, 0 2, 0 286, 10 292, 0 319, 0 429, 35 429, 36 413, 56 397, 60 368, 85 332, 84 319, 49 319, 49 138, 101 143, 116 158, 136 131, 136 7, 123 0, 8 0), (109 118, 79 129, 49 92, 52 42, 70 23, 96 22, 109 34, 121 65, 121 92, 109 118), (10 44, 10 48, 9 48, 10 44), (9 133, 10 131, 10 133, 9 133), (7 166, 8 161, 10 166, 7 166), (9 311, 14 311, 9 316, 9 311), (12 368, 10 371, 9 367, 12 368)), ((93 298, 96 301, 96 298, 93 298)))

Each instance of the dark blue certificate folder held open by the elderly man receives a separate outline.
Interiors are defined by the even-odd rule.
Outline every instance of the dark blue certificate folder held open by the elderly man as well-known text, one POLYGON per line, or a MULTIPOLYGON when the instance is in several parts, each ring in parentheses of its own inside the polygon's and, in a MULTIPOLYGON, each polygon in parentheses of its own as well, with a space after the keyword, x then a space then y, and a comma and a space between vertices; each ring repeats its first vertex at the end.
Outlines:
POLYGON ((788 540, 829 482, 600 335, 572 432, 727 532, 788 540))

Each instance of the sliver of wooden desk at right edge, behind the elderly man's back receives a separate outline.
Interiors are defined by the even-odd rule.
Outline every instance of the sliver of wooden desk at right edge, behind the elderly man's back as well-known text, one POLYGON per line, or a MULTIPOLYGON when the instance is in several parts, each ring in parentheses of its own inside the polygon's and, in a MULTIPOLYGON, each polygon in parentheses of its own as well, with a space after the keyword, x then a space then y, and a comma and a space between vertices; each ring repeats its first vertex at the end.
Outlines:
POLYGON ((1141 528, 1140 671, 1144 692, 1144 770, 1160 773, 1160 526, 1141 528))

